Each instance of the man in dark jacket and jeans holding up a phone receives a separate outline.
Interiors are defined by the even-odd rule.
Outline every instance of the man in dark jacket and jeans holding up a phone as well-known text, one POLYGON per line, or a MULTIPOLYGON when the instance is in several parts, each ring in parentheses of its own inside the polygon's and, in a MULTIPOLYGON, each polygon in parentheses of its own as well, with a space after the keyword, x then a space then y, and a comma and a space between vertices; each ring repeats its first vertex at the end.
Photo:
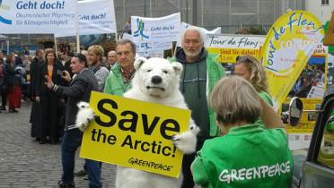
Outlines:
MULTIPOLYGON (((62 180, 58 182, 59 188, 75 187, 74 182, 74 169, 75 169, 75 150, 80 146, 83 132, 79 129, 67 129, 69 125, 75 124, 75 116, 78 112, 76 104, 80 101, 89 102, 92 90, 98 90, 98 82, 95 79, 92 72, 87 68, 87 59, 84 55, 79 54, 71 58, 71 69, 75 73, 74 78, 71 77, 68 72, 64 72, 63 78, 69 81, 69 86, 57 86, 54 84, 48 76, 48 88, 53 90, 57 95, 67 97, 66 104, 66 131, 62 141, 62 165, 63 175, 62 180)), ((99 162, 86 160, 89 187, 96 188, 101 187, 101 169, 99 162)))

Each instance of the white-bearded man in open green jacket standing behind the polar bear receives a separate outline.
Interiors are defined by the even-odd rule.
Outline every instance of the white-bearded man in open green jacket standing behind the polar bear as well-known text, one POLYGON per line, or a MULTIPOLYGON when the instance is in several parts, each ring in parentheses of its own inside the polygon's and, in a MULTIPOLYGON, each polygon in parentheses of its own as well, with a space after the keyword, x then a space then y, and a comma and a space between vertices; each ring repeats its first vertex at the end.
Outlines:
MULTIPOLYGON (((180 91, 191 110, 191 117, 200 128, 198 133, 197 150, 200 150, 204 141, 219 134, 215 125, 215 112, 208 105, 208 99, 215 83, 225 73, 223 66, 215 60, 216 56, 207 53, 204 48, 203 34, 196 27, 189 27, 184 31, 182 48, 176 52, 171 62, 180 62, 183 73, 180 77, 180 91)), ((193 188, 194 182, 190 172, 190 165, 195 154, 184 155, 182 172, 184 175, 182 188, 193 188)))

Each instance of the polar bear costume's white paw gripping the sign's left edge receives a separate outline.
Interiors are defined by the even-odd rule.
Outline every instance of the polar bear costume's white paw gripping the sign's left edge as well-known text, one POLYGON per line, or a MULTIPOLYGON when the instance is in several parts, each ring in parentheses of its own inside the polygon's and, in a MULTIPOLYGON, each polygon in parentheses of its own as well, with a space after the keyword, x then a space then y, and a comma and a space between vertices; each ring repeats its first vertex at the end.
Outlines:
POLYGON ((95 115, 92 108, 89 107, 89 104, 86 102, 79 102, 77 107, 79 107, 79 111, 76 115, 75 128, 79 128, 80 131, 84 132, 97 115, 95 115))

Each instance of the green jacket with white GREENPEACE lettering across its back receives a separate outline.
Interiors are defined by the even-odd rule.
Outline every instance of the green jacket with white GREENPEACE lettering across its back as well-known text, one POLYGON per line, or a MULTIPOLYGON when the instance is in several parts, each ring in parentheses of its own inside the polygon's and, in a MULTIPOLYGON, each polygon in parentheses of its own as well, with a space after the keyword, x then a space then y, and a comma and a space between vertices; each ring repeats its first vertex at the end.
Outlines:
POLYGON ((207 140, 192 173, 194 182, 205 188, 285 188, 292 183, 293 163, 283 129, 249 124, 207 140))

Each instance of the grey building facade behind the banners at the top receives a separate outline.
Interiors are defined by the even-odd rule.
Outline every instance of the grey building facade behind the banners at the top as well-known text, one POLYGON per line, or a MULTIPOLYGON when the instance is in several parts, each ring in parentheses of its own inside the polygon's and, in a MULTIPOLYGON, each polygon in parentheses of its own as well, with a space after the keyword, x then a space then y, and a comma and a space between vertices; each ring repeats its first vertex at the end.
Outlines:
MULTIPOLYGON (((310 0, 312 1, 312 0, 310 0)), ((160 17, 181 13, 181 21, 234 33, 243 25, 271 26, 279 16, 291 10, 305 10, 300 0, 114 0, 118 29, 131 15, 160 17)))

